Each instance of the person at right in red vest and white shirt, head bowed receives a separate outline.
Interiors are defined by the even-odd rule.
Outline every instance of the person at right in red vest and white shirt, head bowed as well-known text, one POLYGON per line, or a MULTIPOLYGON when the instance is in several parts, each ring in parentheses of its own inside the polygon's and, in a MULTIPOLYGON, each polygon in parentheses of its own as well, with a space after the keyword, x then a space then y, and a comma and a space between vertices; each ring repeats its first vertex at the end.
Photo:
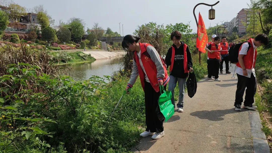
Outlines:
MULTIPOLYGON (((238 77, 237 89, 235 94, 235 110, 241 111, 241 105, 243 102, 243 95, 246 88, 246 95, 243 108, 255 110, 257 107, 253 105, 254 95, 256 93, 256 75, 255 75, 255 63, 257 57, 256 48, 261 45, 268 44, 268 37, 265 34, 259 34, 254 39, 250 38, 248 41, 243 42, 240 45, 238 51, 238 63, 236 73, 238 77)), ((231 49, 230 49, 231 51, 231 49)), ((232 51, 231 51, 232 52, 232 51)), ((235 53, 235 51, 233 52, 235 53)), ((236 59, 235 59, 236 60, 236 59)))

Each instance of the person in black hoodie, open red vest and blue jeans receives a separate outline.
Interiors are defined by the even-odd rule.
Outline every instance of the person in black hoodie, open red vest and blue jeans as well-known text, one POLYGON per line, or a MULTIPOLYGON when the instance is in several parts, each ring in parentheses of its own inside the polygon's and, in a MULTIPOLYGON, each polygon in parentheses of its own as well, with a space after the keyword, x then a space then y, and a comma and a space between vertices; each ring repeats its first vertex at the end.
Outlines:
POLYGON ((188 46, 180 41, 181 33, 174 31, 171 33, 171 40, 173 45, 168 49, 165 57, 165 64, 170 66, 170 81, 168 90, 172 91, 172 104, 175 106, 174 89, 178 82, 179 96, 178 96, 178 112, 183 112, 184 89, 186 85, 186 78, 189 72, 193 71, 193 63, 191 53, 188 46))

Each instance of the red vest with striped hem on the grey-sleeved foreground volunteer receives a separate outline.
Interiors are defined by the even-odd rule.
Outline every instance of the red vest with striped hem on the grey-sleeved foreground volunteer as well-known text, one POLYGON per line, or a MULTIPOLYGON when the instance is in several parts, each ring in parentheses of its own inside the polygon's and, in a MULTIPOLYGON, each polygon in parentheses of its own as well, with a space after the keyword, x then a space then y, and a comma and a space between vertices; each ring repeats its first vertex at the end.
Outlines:
MULTIPOLYGON (((157 68, 155 63, 151 60, 150 57, 148 57, 148 54, 144 54, 144 52, 146 52, 146 47, 149 46, 150 44, 148 43, 139 43, 140 44, 140 48, 141 48, 141 60, 144 66, 144 70, 146 71, 146 75, 150 81, 150 84, 152 85, 153 89, 156 92, 159 92, 159 84, 158 84, 158 78, 157 78, 157 68)), ((138 72, 139 72, 139 76, 140 76, 140 80, 141 80, 141 85, 142 88, 144 90, 144 80, 145 80, 145 73, 143 71, 143 69, 141 68, 140 65, 140 60, 139 57, 137 55, 137 52, 134 52, 134 59, 136 59, 136 64, 138 67, 138 72)), ((162 61, 162 58, 160 57, 160 60, 162 61)), ((169 81, 169 76, 167 74, 167 70, 165 65, 163 64, 163 69, 164 69, 164 78, 162 78, 163 80, 163 86, 166 85, 166 83, 169 81)))

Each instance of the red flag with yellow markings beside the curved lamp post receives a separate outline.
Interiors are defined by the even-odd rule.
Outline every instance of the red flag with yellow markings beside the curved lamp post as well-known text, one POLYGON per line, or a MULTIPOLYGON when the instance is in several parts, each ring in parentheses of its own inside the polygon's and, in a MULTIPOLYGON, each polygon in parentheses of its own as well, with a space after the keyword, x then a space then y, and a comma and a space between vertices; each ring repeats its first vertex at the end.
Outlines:
POLYGON ((204 21, 202 19, 202 16, 198 15, 198 26, 197 26, 197 38, 196 38, 196 47, 200 52, 205 53, 205 46, 208 43, 208 36, 206 32, 206 28, 204 25, 204 21))

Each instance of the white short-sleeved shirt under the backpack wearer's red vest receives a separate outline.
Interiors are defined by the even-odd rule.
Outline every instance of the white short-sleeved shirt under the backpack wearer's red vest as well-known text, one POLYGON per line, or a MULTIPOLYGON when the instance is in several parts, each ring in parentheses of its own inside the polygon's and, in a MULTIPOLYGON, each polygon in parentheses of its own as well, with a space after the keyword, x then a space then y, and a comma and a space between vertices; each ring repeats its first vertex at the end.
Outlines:
MULTIPOLYGON (((253 63, 254 63, 254 57, 255 57, 255 49, 257 48, 255 45, 254 45, 254 43, 253 43, 253 41, 251 40, 251 42, 252 42, 252 47, 253 47, 253 51, 254 51, 254 55, 253 55, 253 63)), ((248 52, 248 43, 243 43, 243 45, 242 45, 242 48, 241 48, 241 50, 240 50, 240 52, 239 52, 239 55, 246 55, 247 54, 247 52, 248 52)), ((246 69, 246 71, 248 72, 248 75, 247 76, 245 76, 245 77, 251 77, 251 73, 253 73, 253 75, 254 75, 254 77, 256 77, 256 74, 255 74, 255 69, 254 69, 254 67, 253 67, 253 65, 252 65, 252 68, 247 68, 246 69)), ((242 76, 244 76, 244 74, 243 74, 243 69, 242 68, 240 68, 240 67, 236 67, 236 73, 237 74, 239 74, 239 75, 242 75, 242 76)))

